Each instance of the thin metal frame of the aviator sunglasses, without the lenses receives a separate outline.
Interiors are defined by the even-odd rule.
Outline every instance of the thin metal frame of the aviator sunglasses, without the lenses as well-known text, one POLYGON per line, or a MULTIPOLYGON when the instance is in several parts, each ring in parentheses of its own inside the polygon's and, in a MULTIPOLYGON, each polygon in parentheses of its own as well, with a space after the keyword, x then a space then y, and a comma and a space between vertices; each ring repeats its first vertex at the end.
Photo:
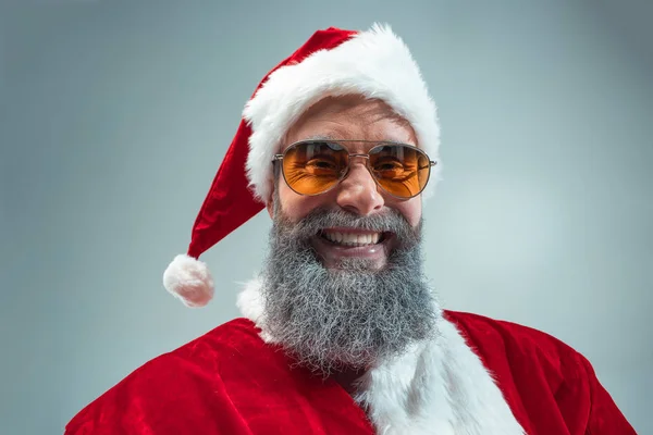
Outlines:
MULTIPOLYGON (((283 174, 283 181, 285 182, 286 186, 288 186, 288 188, 291 190, 293 190, 295 194, 297 195, 301 195, 305 197, 317 197, 319 195, 324 195, 329 191, 331 191, 332 189, 334 189, 337 185, 340 185, 342 183, 343 179, 345 179, 347 177, 347 175, 349 174, 349 170, 352 169, 352 158, 355 157, 359 157, 366 160, 365 163, 365 167, 368 170, 368 172, 370 173, 370 176, 372 177, 372 179, 374 181, 374 183, 377 184, 378 187, 381 188, 381 190, 383 190, 385 194, 394 197, 394 198, 398 198, 402 200, 408 200, 411 198, 417 197, 418 195, 420 195, 422 191, 424 191, 424 189, 427 188, 427 185, 429 184, 429 179, 431 178, 431 167, 435 166, 438 164, 436 161, 431 160, 429 158, 429 156, 421 149, 419 149, 418 147, 414 146, 414 145, 409 145, 409 144, 403 144, 403 142, 395 142, 395 141, 387 141, 387 140, 359 140, 359 139, 307 139, 307 140, 298 140, 296 142, 293 142, 291 145, 288 145, 285 150, 281 153, 281 154, 274 154, 273 159, 272 159, 272 164, 276 163, 276 162, 282 162, 281 165, 281 173, 283 174), (310 144, 323 144, 323 142, 332 142, 332 144, 337 144, 340 146, 342 146, 345 151, 347 151, 347 169, 343 172, 343 175, 337 179, 337 182, 335 182, 333 184, 333 186, 329 187, 326 190, 324 191, 320 191, 319 194, 301 194, 297 190, 295 190, 293 188, 293 186, 291 186, 291 184, 288 183, 286 175, 285 175, 285 170, 283 167, 283 159, 285 157, 285 154, 288 152, 288 150, 299 146, 299 145, 310 145, 310 144), (368 150, 367 153, 352 153, 349 152, 349 150, 347 149, 347 147, 345 145, 341 145, 342 142, 360 142, 360 144, 377 144, 375 146, 373 146, 372 148, 370 148, 368 150), (392 192, 390 192, 385 187, 383 187, 383 185, 381 185, 381 183, 379 183, 379 181, 377 179, 377 177, 374 176, 374 173, 372 171, 372 169, 370 167, 370 153, 373 153, 372 151, 375 150, 377 148, 381 148, 381 147, 387 147, 387 146, 399 146, 399 147, 406 147, 406 148, 410 148, 416 150, 417 152, 423 154, 427 160, 429 161, 429 165, 427 166, 429 169, 429 173, 427 175, 427 182, 424 183, 424 185, 422 186, 422 188, 415 195, 410 196, 410 197, 401 197, 397 195, 394 195, 392 192)), ((422 170, 424 167, 418 167, 419 170, 422 170)))

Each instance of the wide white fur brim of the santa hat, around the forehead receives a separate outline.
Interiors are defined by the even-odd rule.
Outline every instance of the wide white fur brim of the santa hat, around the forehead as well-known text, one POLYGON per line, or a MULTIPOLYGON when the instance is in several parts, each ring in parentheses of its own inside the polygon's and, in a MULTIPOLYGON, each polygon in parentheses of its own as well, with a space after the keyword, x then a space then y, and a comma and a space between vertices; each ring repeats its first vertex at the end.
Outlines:
POLYGON ((270 199, 272 158, 291 125, 324 97, 350 94, 381 99, 411 124, 418 146, 438 161, 422 197, 432 194, 441 170, 435 103, 408 47, 389 26, 374 24, 332 50, 274 71, 245 105, 252 130, 247 176, 257 199, 270 199))

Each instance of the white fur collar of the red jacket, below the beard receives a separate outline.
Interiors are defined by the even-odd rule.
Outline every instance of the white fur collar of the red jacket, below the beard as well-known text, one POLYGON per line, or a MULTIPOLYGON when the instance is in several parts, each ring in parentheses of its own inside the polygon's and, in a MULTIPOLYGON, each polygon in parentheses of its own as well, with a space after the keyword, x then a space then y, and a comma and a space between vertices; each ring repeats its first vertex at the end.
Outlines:
MULTIPOLYGON (((260 282, 238 296, 244 316, 266 332, 260 282)), ((354 399, 383 435, 522 435, 501 390, 455 325, 441 318, 440 335, 382 363, 360 380, 354 399)))

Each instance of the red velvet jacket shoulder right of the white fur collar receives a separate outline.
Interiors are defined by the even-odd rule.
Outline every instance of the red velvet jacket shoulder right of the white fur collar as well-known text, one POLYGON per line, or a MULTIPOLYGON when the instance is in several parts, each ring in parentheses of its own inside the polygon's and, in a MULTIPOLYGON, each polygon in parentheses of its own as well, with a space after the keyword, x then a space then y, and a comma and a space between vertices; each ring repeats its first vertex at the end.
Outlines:
POLYGON ((443 314, 481 359, 527 432, 562 433, 551 430, 555 426, 574 434, 636 433, 590 361, 562 339, 480 314, 443 314))

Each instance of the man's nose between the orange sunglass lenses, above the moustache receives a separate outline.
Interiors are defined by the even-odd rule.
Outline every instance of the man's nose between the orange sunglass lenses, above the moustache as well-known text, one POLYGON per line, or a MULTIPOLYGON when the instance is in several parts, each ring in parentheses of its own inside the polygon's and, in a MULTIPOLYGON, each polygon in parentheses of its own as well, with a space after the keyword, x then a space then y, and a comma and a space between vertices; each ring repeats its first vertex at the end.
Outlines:
POLYGON ((383 208, 383 196, 368 171, 365 159, 352 161, 349 173, 338 186, 336 202, 341 208, 362 216, 383 208))

